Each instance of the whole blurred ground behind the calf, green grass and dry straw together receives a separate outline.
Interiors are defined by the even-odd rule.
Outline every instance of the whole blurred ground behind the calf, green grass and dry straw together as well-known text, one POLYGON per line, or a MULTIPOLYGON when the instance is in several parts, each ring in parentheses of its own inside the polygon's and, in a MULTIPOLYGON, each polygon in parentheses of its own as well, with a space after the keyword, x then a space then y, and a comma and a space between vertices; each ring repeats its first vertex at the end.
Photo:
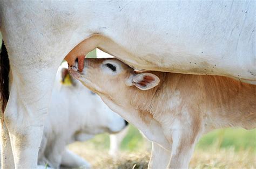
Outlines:
MULTIPOLYGON (((109 139, 100 135, 69 149, 85 158, 93 168, 146 168, 150 143, 130 127, 116 158, 108 154, 109 139)), ((190 168, 256 168, 256 130, 216 130, 200 139, 190 168)), ((161 168, 159 168, 161 169, 161 168)))

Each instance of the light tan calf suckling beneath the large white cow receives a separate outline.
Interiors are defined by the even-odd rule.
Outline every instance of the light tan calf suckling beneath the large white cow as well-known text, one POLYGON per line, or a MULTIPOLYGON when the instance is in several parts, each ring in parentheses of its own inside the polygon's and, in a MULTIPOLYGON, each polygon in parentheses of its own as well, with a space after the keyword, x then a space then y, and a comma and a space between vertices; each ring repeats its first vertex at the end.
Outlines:
POLYGON ((117 59, 85 59, 71 74, 152 141, 150 168, 187 168, 213 129, 256 126, 256 86, 223 76, 137 72, 117 59))

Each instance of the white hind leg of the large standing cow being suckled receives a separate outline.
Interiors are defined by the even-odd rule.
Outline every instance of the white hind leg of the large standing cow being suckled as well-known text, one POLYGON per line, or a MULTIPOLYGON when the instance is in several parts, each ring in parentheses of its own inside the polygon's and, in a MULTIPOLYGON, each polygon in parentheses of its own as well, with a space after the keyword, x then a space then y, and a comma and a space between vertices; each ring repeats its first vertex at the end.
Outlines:
MULTIPOLYGON (((13 81, 4 112, 15 168, 36 168, 55 69, 12 65, 13 81)), ((56 65, 55 65, 56 66, 56 65)))

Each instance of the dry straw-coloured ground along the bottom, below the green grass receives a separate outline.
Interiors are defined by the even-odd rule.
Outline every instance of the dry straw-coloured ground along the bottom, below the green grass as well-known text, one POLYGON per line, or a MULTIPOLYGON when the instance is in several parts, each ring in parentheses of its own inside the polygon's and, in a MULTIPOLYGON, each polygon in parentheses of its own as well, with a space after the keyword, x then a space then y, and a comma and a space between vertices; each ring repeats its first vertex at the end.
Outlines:
MULTIPOLYGON (((92 168, 147 168, 150 159, 149 151, 122 151, 116 158, 107 150, 97 150, 82 143, 69 146, 69 149, 85 158, 92 168)), ((190 168, 256 168, 256 154, 251 151, 234 151, 234 149, 196 150, 190 168)), ((159 168, 161 169, 161 168, 159 168)))

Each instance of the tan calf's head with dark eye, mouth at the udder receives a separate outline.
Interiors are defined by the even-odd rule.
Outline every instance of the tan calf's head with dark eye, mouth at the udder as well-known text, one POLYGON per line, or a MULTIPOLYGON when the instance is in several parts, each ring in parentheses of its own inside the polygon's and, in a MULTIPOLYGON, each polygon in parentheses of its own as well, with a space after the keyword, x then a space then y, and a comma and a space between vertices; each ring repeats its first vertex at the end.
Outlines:
POLYGON ((134 91, 150 90, 160 82, 157 75, 149 72, 136 72, 116 58, 86 58, 83 72, 79 72, 77 67, 78 63, 69 67, 73 77, 97 94, 117 102, 122 100, 120 97, 130 95, 134 91))

